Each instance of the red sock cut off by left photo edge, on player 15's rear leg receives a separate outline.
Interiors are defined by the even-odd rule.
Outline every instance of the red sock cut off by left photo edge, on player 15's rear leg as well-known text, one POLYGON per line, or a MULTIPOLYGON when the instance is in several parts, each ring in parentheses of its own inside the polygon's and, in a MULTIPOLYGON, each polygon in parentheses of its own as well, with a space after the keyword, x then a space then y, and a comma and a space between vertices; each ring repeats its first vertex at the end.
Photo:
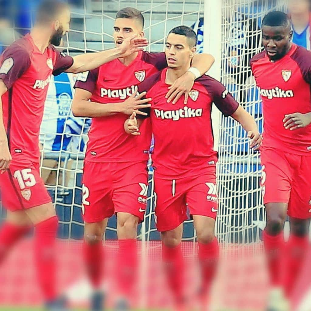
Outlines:
POLYGON ((30 230, 29 226, 17 226, 3 223, 0 230, 0 262, 5 258, 12 246, 30 230))

